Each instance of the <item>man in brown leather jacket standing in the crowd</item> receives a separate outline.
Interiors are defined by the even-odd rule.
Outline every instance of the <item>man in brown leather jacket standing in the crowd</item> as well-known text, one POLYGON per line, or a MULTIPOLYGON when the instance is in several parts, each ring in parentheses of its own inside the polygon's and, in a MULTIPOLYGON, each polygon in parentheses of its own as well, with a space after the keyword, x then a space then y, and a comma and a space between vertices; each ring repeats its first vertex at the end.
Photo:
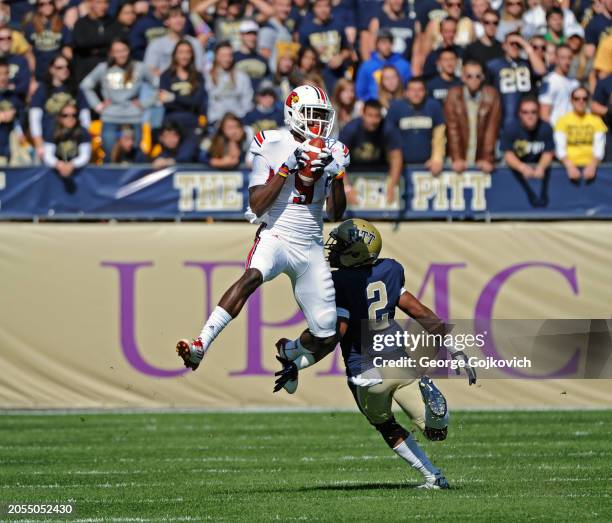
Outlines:
POLYGON ((450 89, 444 103, 448 154, 457 173, 471 165, 486 173, 495 167, 502 106, 497 90, 484 79, 479 62, 466 62, 463 85, 450 89))

